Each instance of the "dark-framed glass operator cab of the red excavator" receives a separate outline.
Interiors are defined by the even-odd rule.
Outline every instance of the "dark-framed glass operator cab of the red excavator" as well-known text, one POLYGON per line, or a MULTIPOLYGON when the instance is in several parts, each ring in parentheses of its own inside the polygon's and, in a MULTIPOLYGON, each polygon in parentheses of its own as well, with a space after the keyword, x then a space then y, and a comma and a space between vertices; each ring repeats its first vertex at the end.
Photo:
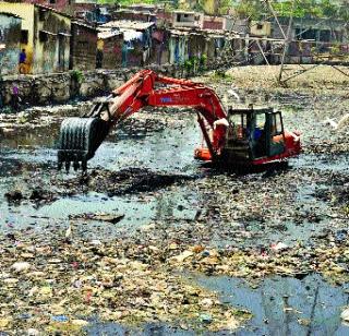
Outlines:
POLYGON ((228 128, 222 159, 234 165, 269 160, 286 151, 280 111, 273 108, 228 110, 228 128))

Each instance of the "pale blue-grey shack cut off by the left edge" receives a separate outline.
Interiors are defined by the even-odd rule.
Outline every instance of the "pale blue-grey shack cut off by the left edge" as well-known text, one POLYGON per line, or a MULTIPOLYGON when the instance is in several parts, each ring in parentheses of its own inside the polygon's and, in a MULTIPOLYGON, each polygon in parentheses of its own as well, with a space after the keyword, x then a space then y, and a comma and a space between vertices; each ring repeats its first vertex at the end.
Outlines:
POLYGON ((0 12, 0 74, 19 73, 21 17, 0 12))

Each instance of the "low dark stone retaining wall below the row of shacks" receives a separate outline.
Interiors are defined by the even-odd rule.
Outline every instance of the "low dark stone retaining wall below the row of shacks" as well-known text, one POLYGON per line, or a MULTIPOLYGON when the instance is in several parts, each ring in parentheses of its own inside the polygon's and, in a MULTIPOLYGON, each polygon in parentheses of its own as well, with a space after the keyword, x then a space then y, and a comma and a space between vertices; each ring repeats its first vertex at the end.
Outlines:
MULTIPOLYGON (((231 63, 228 59, 216 59, 207 64, 208 69, 219 69, 231 63)), ((173 77, 185 77, 194 75, 188 73, 184 68, 177 64, 149 65, 157 73, 173 77)), ((83 72, 82 82, 79 83, 73 72, 4 76, 1 83, 1 96, 4 108, 10 106, 13 87, 19 87, 20 97, 24 106, 64 104, 72 98, 88 99, 92 97, 107 95, 119 87, 142 68, 128 68, 117 70, 96 70, 83 72)), ((1 108, 1 107, 0 107, 1 108)), ((1 110, 0 110, 1 111, 1 110)))

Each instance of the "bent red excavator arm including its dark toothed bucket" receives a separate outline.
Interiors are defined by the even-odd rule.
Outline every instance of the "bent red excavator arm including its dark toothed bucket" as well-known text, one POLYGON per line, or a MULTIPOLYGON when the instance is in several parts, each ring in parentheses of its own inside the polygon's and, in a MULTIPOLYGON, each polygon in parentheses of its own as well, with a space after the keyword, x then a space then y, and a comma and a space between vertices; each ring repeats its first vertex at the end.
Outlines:
POLYGON ((87 160, 95 155, 110 129, 146 106, 192 107, 197 112, 209 158, 215 159, 221 151, 228 122, 215 92, 202 84, 143 70, 115 89, 108 98, 97 103, 89 113, 62 122, 59 168, 64 163, 69 170, 73 163, 74 169, 82 165, 86 170, 87 160))

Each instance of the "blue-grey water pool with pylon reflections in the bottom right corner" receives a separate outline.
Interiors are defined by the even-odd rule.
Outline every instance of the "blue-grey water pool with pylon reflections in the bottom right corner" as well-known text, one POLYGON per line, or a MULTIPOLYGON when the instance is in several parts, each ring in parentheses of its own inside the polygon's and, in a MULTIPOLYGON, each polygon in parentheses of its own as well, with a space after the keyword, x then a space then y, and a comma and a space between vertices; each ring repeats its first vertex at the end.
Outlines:
POLYGON ((340 321, 348 305, 348 286, 333 287, 318 276, 304 279, 272 277, 258 288, 242 279, 194 277, 201 286, 219 292, 224 302, 252 312, 237 335, 348 335, 340 321))

